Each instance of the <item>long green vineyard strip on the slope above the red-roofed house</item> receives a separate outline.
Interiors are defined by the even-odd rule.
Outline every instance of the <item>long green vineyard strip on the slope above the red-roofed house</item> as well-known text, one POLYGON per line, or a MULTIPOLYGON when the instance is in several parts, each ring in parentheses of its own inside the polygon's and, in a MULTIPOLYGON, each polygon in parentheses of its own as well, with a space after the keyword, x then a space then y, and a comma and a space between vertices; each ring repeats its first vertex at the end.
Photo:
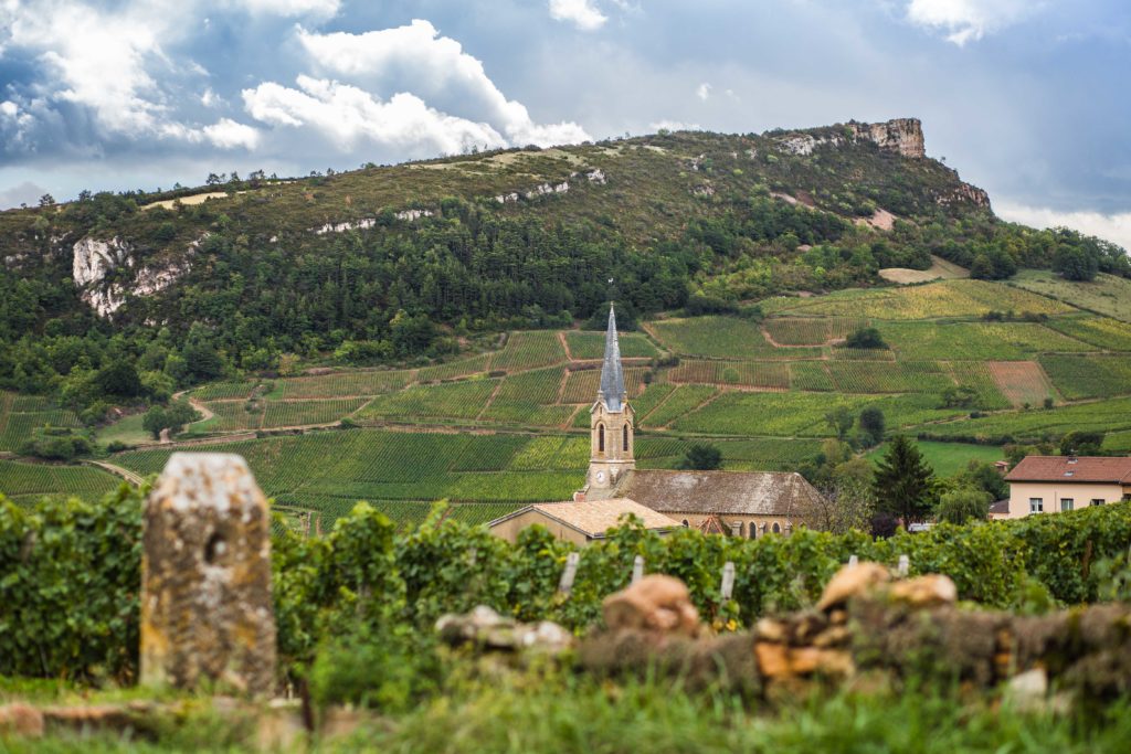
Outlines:
POLYGON ((1046 436, 1057 439, 1080 428, 1103 432, 1131 430, 1131 398, 994 414, 939 424, 930 427, 930 431, 940 437, 982 437, 996 442, 1005 437, 1016 441, 1038 441, 1046 436))

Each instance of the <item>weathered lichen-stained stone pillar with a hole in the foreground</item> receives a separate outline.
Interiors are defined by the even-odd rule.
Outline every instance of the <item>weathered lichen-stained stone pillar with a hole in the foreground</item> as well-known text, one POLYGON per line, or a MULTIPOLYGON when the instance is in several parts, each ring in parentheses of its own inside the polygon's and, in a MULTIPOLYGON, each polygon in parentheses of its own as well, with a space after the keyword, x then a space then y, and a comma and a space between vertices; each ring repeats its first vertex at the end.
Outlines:
POLYGON ((275 684, 270 518, 247 462, 173 453, 145 504, 141 683, 275 684))

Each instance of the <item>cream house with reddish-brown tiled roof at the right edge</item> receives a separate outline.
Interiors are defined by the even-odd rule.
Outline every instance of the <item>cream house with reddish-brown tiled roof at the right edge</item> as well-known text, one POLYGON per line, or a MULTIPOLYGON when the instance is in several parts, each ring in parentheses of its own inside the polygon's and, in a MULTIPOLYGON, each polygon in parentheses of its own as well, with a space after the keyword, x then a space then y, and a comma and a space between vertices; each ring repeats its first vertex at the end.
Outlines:
POLYGON ((1104 505, 1131 499, 1131 458, 1028 456, 1005 482, 1009 508, 993 518, 1019 519, 1104 505))

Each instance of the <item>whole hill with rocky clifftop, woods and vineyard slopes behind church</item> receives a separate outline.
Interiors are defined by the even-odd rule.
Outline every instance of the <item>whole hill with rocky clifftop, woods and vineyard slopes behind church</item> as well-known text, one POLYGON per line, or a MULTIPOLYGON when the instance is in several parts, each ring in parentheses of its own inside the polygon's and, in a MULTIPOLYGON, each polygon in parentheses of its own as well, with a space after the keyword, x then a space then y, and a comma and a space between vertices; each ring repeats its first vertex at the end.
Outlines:
MULTIPOLYGON (((948 469, 955 440, 1131 448, 1122 250, 1001 223, 914 120, 211 183, 0 214, 0 451, 138 444, 137 411, 190 389, 208 418, 185 437, 242 436, 224 447, 295 526, 359 497, 480 520, 579 486, 601 336, 575 328, 610 297, 640 327, 642 466, 709 439, 728 468, 796 469, 838 407, 940 441, 948 469), (878 275, 957 266, 982 279, 878 275), (843 346, 867 327, 887 348, 843 346)), ((51 468, 12 461, 0 487, 50 492, 51 468)), ((80 494, 114 484, 83 473, 80 494)))

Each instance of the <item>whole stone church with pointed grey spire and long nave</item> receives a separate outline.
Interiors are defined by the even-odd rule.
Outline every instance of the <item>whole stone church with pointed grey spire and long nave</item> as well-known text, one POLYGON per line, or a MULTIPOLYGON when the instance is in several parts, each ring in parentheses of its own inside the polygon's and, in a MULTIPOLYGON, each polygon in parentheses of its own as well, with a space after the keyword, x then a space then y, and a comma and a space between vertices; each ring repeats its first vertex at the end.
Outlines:
POLYGON ((492 521, 491 530, 513 539, 520 528, 537 522, 556 528, 560 538, 584 544, 603 536, 604 529, 595 531, 590 526, 586 530, 579 522, 604 523, 630 512, 661 534, 694 527, 708 534, 756 538, 788 535, 796 526, 812 525, 821 497, 800 474, 637 469, 636 428, 636 411, 624 388, 616 312, 610 306, 601 385, 589 410, 585 486, 572 503, 527 505, 492 521), (640 515, 641 510, 653 514, 640 515), (595 517, 594 511, 603 515, 595 517), (572 528, 563 523, 567 519, 572 520, 572 528))

